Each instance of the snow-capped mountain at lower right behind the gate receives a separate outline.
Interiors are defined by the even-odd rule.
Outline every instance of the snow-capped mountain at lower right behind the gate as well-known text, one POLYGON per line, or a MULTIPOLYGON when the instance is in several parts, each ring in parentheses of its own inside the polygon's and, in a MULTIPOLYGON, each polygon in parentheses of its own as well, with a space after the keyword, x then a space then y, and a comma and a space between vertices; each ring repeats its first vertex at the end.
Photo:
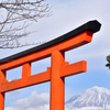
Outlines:
POLYGON ((69 108, 110 106, 110 90, 102 87, 92 87, 86 91, 72 97, 66 106, 69 108))

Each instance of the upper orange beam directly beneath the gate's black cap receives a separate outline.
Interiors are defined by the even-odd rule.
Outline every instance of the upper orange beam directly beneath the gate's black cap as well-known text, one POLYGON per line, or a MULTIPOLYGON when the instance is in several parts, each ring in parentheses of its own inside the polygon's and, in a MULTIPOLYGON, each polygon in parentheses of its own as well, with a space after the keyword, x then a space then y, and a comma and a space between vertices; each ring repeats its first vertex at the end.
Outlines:
POLYGON ((62 51, 62 52, 66 52, 76 47, 79 47, 81 45, 85 45, 89 42, 91 42, 92 38, 92 33, 91 32, 82 32, 74 37, 70 37, 62 43, 58 43, 56 45, 53 45, 51 47, 47 47, 45 50, 22 56, 20 58, 16 58, 14 61, 4 63, 0 65, 0 69, 12 69, 14 67, 21 66, 22 64, 25 64, 28 62, 34 62, 34 61, 38 61, 45 57, 51 56, 52 52, 57 50, 57 51, 62 51))

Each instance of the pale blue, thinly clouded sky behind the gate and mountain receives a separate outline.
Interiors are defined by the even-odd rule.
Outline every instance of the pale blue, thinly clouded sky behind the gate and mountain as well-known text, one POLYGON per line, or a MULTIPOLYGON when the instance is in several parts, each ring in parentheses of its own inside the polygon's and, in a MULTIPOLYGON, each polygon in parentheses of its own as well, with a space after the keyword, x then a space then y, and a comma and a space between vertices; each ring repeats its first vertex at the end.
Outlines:
MULTIPOLYGON (((52 6, 52 16, 33 24, 31 29, 37 32, 26 40, 22 40, 22 42, 53 40, 90 20, 98 20, 102 26, 100 32, 94 34, 92 42, 66 53, 65 61, 70 64, 87 61, 87 73, 66 78, 65 97, 67 100, 72 96, 94 86, 110 89, 110 69, 105 66, 107 63, 106 56, 110 54, 110 0, 48 0, 47 2, 52 6)), ((26 48, 1 50, 0 58, 26 48)), ((51 66, 51 58, 33 64, 32 73, 40 73, 48 66, 51 66)), ((8 72, 8 78, 21 77, 21 70, 19 68, 19 70, 8 72)), ((30 107, 25 106, 26 110, 35 110, 36 108, 38 108, 37 110, 48 110, 50 82, 8 92, 6 96, 6 110, 25 110, 24 107, 19 108, 18 106, 22 101, 26 103, 33 96, 40 98, 42 105, 32 108, 29 103, 30 107), (42 96, 47 100, 43 100, 42 96)))

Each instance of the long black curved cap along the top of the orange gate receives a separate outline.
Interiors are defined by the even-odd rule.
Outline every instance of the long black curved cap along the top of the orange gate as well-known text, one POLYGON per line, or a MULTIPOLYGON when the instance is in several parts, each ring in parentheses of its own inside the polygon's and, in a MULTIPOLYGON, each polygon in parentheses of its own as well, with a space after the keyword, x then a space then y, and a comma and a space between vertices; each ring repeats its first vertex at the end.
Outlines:
POLYGON ((12 55, 12 56, 8 56, 6 58, 2 58, 2 59, 0 59, 0 64, 16 59, 16 58, 19 58, 21 56, 29 55, 31 53, 34 53, 34 52, 37 52, 37 51, 41 51, 41 50, 44 50, 44 48, 50 47, 52 45, 55 45, 55 44, 57 44, 59 42, 63 42, 63 41, 65 41, 67 38, 74 37, 75 35, 77 35, 77 34, 79 34, 79 33, 81 33, 84 31, 90 31, 92 33, 96 33, 96 32, 98 32, 100 30, 100 28, 101 28, 101 24, 97 20, 89 21, 89 22, 82 24, 81 26, 79 26, 79 28, 77 28, 77 29, 75 29, 75 30, 73 30, 73 31, 59 36, 59 37, 56 37, 56 38, 54 38, 52 41, 48 41, 48 42, 46 42, 44 44, 41 44, 41 45, 35 46, 35 47, 32 47, 30 50, 20 52, 18 54, 12 55))

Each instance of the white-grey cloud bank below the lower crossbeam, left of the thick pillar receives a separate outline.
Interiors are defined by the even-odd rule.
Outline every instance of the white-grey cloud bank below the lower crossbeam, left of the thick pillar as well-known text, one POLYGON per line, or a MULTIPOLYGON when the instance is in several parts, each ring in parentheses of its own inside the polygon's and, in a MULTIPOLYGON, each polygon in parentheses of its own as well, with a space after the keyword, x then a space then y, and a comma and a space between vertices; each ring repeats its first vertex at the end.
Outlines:
POLYGON ((33 91, 30 97, 19 99, 12 107, 7 107, 4 110, 50 110, 48 94, 36 94, 33 91))

